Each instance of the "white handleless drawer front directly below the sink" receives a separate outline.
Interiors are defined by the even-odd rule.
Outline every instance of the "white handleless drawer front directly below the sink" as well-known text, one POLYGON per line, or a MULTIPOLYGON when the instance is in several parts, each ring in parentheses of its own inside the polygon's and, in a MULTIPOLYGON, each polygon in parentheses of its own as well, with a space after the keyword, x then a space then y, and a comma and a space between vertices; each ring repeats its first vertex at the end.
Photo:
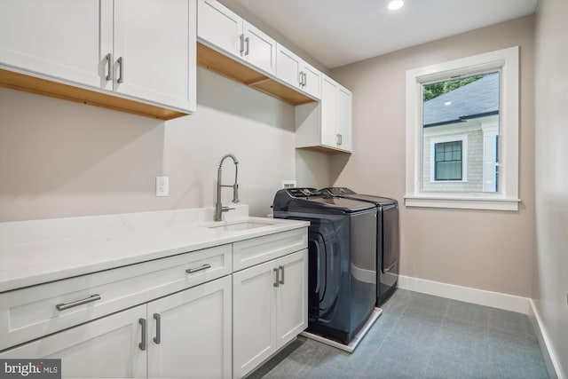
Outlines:
POLYGON ((308 228, 233 243, 233 271, 258 265, 308 247, 308 228))

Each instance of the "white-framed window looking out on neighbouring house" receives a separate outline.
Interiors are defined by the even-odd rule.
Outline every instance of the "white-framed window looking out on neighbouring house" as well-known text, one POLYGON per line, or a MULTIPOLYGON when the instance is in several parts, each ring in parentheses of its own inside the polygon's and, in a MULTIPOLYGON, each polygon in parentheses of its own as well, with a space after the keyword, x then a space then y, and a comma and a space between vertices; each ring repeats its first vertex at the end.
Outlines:
POLYGON ((518 47, 406 72, 406 206, 518 209, 518 47))

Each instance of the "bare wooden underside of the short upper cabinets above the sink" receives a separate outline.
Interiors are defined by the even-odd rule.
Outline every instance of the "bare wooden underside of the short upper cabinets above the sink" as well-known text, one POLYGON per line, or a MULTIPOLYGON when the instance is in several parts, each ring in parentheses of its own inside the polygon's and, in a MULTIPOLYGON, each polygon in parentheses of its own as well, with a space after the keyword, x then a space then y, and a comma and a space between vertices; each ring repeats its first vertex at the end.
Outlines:
POLYGON ((304 95, 304 93, 293 90, 287 85, 227 57, 225 54, 211 49, 203 43, 197 43, 197 66, 207 68, 214 73, 245 84, 293 106, 316 101, 304 95))

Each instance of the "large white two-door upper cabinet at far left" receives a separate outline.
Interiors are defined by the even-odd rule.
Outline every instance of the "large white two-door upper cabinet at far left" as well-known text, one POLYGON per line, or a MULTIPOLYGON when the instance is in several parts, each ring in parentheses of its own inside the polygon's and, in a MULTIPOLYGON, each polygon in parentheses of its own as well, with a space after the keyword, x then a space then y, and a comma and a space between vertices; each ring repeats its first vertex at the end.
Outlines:
MULTIPOLYGON (((2 0, 0 67, 193 112, 196 6, 194 0, 2 0)), ((127 108, 84 91, 70 95, 53 85, 49 91, 127 108)), ((138 107, 136 113, 145 112, 138 107)))

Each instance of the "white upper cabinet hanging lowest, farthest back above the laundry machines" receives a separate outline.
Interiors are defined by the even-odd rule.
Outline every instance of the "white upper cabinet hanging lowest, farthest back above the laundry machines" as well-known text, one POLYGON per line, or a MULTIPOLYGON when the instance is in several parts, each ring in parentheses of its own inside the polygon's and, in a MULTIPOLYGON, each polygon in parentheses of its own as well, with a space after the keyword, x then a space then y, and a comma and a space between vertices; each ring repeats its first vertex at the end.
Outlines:
POLYGON ((296 107, 296 147, 351 153, 351 91, 323 75, 318 104, 296 107))

